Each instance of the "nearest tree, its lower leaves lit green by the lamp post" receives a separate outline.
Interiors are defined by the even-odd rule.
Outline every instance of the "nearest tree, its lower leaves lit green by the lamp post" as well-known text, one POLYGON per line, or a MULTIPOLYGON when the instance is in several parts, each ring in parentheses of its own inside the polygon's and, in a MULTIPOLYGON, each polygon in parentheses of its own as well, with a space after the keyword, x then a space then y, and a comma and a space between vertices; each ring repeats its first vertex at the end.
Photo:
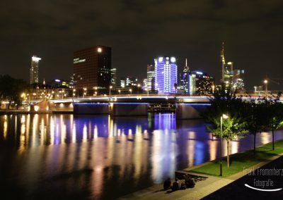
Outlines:
MULTIPOLYGON (((224 87, 222 87, 224 88, 224 87)), ((236 97, 236 93, 229 89, 218 89, 214 96, 209 99, 211 106, 207 108, 202 117, 210 125, 207 130, 217 138, 223 138, 227 143, 227 167, 230 167, 230 142, 236 136, 243 137, 247 132, 246 121, 243 118, 244 103, 241 98, 236 97), (229 118, 223 120, 221 133, 221 115, 229 115, 229 118)))

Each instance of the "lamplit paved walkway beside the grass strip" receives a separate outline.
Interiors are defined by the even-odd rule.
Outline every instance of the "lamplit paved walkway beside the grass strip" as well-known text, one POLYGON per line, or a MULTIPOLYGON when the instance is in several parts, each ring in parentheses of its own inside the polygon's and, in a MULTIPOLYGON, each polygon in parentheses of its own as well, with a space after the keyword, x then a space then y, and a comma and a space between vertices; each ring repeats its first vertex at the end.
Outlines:
MULTIPOLYGON (((279 156, 273 156, 272 158, 268 159, 267 161, 258 163, 258 165, 254 165, 248 169, 256 169, 260 168, 263 165, 266 165, 267 163, 270 163, 270 161, 274 161, 275 159, 279 158, 280 156, 283 156, 283 154, 279 156)), ((204 165, 206 163, 203 163, 204 165)), ((189 170, 192 170, 193 168, 197 168, 200 165, 194 166, 192 168, 187 168, 183 171, 187 172, 189 170)), ((190 173, 195 174, 195 173, 190 173)), ((201 175, 201 174, 195 174, 195 175, 201 175)), ((202 180, 199 182, 196 182, 196 185, 194 188, 184 189, 184 190, 178 190, 175 192, 171 192, 171 189, 167 191, 163 191, 163 184, 161 185, 154 185, 152 187, 148 187, 146 189, 140 190, 138 192, 134 192, 132 194, 128 194, 126 196, 122 196, 119 199, 127 200, 127 199, 202 199, 205 196, 212 194, 213 192, 216 192, 217 190, 221 189, 222 187, 225 187, 226 185, 229 185, 231 182, 234 182, 235 180, 238 180, 240 177, 243 177, 243 172, 237 173, 235 175, 231 175, 230 177, 215 177, 210 175, 202 175, 204 177, 208 177, 207 180, 202 180)))

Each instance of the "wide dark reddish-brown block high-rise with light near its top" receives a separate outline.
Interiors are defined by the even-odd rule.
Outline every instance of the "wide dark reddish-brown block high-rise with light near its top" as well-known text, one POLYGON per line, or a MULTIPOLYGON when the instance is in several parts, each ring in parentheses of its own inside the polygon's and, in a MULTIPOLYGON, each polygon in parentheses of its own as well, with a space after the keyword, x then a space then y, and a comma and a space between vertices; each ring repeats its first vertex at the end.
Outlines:
POLYGON ((111 48, 93 46, 74 52, 74 87, 107 91, 111 82, 111 48))

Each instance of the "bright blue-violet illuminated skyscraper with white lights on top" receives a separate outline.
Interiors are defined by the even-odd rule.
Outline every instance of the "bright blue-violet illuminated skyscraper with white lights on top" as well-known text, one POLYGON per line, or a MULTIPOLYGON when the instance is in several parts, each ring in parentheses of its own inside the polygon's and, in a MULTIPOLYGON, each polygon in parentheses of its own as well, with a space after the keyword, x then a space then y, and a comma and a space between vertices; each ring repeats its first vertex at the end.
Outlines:
POLYGON ((175 93, 177 64, 175 57, 159 57, 155 63, 155 89, 158 92, 175 93))

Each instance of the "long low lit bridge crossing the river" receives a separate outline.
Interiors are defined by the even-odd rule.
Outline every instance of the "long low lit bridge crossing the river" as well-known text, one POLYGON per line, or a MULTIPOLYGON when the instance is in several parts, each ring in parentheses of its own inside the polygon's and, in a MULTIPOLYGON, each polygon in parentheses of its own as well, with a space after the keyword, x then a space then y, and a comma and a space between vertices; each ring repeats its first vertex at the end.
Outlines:
MULTIPOLYGON (((243 100, 257 99, 242 97, 243 100)), ((281 99, 282 101, 282 99, 281 99)), ((171 105, 177 119, 200 118, 209 104, 208 96, 175 95, 115 95, 85 96, 83 98, 50 99, 34 102, 32 111, 73 111, 74 114, 147 115, 153 105, 171 105)))

